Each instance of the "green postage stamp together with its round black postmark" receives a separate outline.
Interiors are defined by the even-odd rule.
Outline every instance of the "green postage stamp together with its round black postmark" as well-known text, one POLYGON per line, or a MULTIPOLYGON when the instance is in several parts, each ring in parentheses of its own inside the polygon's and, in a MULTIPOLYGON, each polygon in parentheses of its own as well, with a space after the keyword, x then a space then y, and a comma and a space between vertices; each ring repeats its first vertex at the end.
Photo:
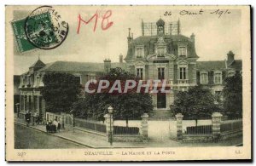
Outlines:
POLYGON ((25 19, 12 22, 20 52, 55 49, 67 37, 68 24, 51 6, 34 9, 25 19))

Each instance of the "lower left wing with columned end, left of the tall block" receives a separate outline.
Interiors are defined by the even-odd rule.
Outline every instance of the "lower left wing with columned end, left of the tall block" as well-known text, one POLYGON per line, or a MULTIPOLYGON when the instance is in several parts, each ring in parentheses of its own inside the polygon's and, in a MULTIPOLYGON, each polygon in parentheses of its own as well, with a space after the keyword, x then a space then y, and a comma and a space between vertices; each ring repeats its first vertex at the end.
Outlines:
POLYGON ((111 63, 111 60, 104 60, 104 63, 55 61, 49 64, 44 64, 42 60, 38 59, 29 67, 28 72, 20 75, 19 117, 24 118, 26 112, 32 112, 32 114, 38 113, 39 116, 43 117, 43 120, 45 119, 46 103, 40 89, 44 87, 43 77, 48 72, 66 72, 73 74, 77 77, 78 82, 84 85, 91 79, 101 77, 104 72, 109 72, 111 67, 125 69, 125 66, 122 59, 120 59, 119 63, 111 63))

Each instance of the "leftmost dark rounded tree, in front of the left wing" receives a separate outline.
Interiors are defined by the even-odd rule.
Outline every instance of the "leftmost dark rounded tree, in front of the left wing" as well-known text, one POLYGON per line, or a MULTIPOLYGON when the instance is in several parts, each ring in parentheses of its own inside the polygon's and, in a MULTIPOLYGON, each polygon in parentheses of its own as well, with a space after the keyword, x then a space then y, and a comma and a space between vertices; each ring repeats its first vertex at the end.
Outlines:
POLYGON ((80 93, 80 83, 72 74, 49 72, 44 75, 42 95, 47 112, 70 112, 80 93))

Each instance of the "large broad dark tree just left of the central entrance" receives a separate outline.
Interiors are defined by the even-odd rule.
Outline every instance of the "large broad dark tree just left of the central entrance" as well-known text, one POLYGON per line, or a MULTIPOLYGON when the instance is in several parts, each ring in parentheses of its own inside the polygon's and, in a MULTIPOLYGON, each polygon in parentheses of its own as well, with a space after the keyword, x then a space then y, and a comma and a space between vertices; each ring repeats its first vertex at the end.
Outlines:
MULTIPOLYGON (((114 68, 108 74, 100 77, 100 80, 108 80, 111 85, 108 89, 102 90, 101 93, 84 94, 84 99, 74 104, 76 115, 86 115, 97 120, 103 120, 103 116, 108 113, 108 106, 113 106, 113 118, 125 119, 128 126, 129 119, 138 119, 143 113, 153 110, 153 101, 150 94, 136 93, 136 87, 127 93, 118 93, 117 91, 113 91, 111 94, 108 93, 115 80, 120 80, 122 91, 126 80, 138 82, 138 77, 130 72, 125 72, 121 68, 114 68), (79 109, 82 105, 84 109, 79 109)), ((93 84, 90 88, 97 89, 98 85, 99 82, 93 84)))

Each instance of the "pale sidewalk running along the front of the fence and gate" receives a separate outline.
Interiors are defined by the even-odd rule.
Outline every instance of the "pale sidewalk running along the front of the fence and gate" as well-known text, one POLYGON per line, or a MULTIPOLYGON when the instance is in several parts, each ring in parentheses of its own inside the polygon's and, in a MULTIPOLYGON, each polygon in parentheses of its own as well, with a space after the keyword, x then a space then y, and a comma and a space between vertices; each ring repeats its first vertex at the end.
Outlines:
MULTIPOLYGON (((26 125, 23 119, 15 118, 15 123, 20 125, 26 125)), ((38 131, 45 132, 46 129, 44 125, 32 125, 29 128, 37 129, 38 131)), ((143 147, 188 147, 188 146, 237 146, 241 145, 242 138, 233 138, 230 140, 224 140, 218 143, 183 143, 174 140, 156 141, 149 140, 148 142, 113 142, 113 146, 110 146, 109 142, 105 139, 96 138, 95 135, 90 133, 85 133, 79 130, 61 130, 60 133, 48 134, 60 137, 64 140, 72 141, 81 146, 88 146, 91 148, 143 148, 143 147)))

